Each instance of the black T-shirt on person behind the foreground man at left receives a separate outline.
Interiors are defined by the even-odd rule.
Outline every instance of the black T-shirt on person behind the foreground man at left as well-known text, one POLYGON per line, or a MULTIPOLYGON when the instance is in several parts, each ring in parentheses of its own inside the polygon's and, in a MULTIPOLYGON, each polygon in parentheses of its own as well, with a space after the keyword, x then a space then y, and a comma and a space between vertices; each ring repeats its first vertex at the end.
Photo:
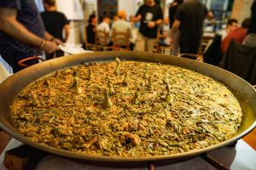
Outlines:
POLYGON ((58 11, 44 11, 41 13, 41 16, 44 21, 45 30, 53 37, 63 41, 63 28, 65 25, 69 24, 65 14, 58 11))

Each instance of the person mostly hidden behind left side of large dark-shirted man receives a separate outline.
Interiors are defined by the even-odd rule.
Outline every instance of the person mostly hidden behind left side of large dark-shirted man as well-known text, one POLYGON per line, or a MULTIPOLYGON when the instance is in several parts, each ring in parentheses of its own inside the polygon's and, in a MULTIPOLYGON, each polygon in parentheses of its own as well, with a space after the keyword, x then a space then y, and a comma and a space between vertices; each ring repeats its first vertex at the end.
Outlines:
MULTIPOLYGON (((174 23, 174 16, 176 14, 177 8, 183 3, 183 0, 174 0, 173 3, 171 3, 171 6, 169 8, 169 24, 170 24, 170 29, 172 30, 172 25, 174 23)), ((178 54, 178 49, 179 49, 179 36, 180 36, 180 31, 171 31, 172 35, 172 55, 177 56, 178 54)))

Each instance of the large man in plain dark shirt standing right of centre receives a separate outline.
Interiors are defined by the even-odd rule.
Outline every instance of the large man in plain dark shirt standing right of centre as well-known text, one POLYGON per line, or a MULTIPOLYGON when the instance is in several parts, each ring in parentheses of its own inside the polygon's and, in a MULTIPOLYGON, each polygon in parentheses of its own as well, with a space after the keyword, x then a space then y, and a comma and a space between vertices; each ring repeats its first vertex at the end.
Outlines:
POLYGON ((181 54, 197 54, 206 17, 212 18, 212 13, 197 0, 188 0, 177 8, 172 31, 178 28, 181 31, 179 40, 181 54))

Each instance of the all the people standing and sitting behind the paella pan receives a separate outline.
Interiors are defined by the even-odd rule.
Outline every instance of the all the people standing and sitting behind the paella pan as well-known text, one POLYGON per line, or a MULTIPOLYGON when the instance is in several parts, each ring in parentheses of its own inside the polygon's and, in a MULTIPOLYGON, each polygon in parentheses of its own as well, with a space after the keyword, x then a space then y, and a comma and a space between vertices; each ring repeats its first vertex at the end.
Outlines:
MULTIPOLYGON (((0 1, 0 54, 13 67, 14 72, 22 69, 18 65, 20 59, 38 56, 42 52, 47 54, 47 59, 63 55, 58 51, 58 45, 67 41, 68 20, 64 14, 56 11, 55 0, 43 2, 45 11, 40 14, 34 0, 0 1)), ((223 53, 231 39, 251 45, 256 42, 255 6, 254 0, 250 23, 245 20, 241 27, 237 27, 236 20, 228 21, 226 30, 221 33, 223 53)), ((111 27, 110 17, 104 16, 97 25, 96 14, 91 14, 86 27, 87 42, 95 43, 96 31, 106 31, 107 45, 111 45, 113 31, 127 31, 131 44, 135 45, 135 51, 153 52, 154 44, 160 37, 161 44, 171 43, 173 55, 197 54, 201 46, 204 20, 214 20, 212 12, 197 0, 174 0, 169 8, 169 20, 164 18, 162 8, 154 0, 146 0, 137 13, 130 16, 129 22, 125 11, 119 11, 111 27), (166 41, 167 38, 170 39, 169 42, 166 41)), ((27 61, 26 64, 36 63, 38 60, 27 61)))

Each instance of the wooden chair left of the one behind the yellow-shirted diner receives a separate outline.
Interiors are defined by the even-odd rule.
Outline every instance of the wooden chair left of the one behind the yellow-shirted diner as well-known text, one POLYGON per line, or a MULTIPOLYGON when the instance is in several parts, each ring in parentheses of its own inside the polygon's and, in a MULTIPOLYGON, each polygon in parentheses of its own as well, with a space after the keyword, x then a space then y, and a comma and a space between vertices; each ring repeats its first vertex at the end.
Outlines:
POLYGON ((113 46, 108 46, 108 32, 107 31, 96 31, 95 42, 98 51, 112 50, 113 46))

